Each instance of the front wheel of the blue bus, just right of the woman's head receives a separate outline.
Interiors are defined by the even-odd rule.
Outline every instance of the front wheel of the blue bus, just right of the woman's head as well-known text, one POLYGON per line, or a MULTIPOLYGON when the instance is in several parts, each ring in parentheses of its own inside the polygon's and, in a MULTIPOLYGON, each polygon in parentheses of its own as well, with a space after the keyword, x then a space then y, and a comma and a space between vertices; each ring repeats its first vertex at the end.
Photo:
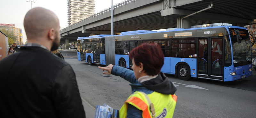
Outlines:
POLYGON ((184 64, 179 65, 177 70, 178 77, 181 80, 189 80, 191 77, 190 77, 190 72, 188 70, 189 68, 187 65, 184 65, 184 64))

